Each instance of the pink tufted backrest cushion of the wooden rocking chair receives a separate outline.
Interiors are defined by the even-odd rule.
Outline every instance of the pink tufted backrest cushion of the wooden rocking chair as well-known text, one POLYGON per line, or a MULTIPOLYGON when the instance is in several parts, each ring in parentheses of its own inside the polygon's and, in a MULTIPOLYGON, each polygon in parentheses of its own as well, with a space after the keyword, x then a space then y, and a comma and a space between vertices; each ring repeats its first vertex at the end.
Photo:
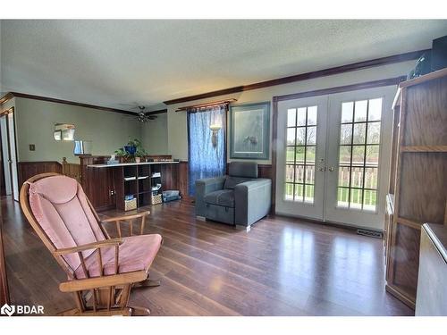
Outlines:
MULTIPOLYGON (((29 194, 32 214, 57 249, 105 239, 78 181, 62 175, 46 177, 31 183, 29 194)), ((64 258, 72 270, 80 266, 79 255, 64 258)))

